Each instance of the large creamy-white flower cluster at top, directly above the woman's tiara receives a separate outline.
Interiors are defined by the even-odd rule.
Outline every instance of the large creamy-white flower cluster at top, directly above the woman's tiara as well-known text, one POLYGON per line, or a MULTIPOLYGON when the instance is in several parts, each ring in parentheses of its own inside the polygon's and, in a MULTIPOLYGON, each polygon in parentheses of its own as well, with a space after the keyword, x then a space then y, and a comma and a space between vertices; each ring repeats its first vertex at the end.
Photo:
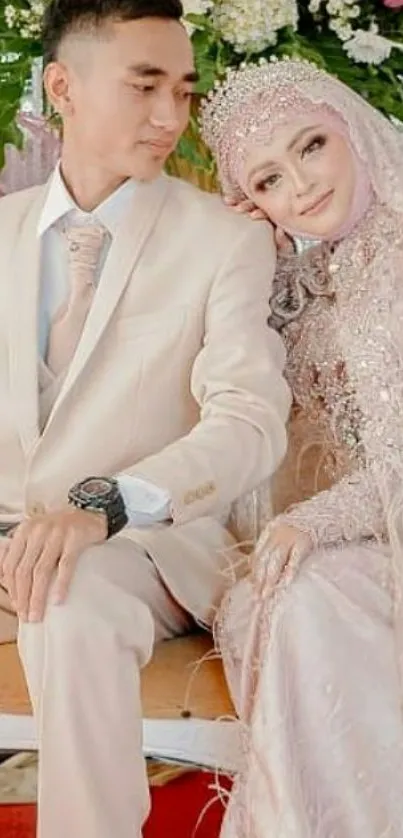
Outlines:
POLYGON ((297 0, 216 0, 215 25, 237 52, 261 52, 285 26, 298 27, 297 0))

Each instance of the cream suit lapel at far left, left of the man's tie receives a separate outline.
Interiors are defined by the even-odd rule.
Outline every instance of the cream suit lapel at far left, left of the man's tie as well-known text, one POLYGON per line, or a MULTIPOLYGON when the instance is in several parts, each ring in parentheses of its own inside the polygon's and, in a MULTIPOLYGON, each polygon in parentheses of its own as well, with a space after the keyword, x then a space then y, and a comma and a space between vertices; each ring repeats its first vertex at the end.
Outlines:
POLYGON ((9 283, 10 386, 21 442, 27 456, 39 439, 38 296, 40 240, 37 225, 47 185, 38 190, 13 243, 9 283))

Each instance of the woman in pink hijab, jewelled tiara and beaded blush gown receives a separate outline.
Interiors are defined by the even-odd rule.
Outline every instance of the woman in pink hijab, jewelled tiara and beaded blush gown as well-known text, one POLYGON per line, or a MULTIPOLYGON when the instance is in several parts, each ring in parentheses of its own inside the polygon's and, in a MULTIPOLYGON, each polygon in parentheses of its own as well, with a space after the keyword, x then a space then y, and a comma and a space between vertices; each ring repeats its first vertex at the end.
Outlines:
POLYGON ((316 243, 271 300, 298 502, 217 623, 246 742, 223 836, 401 838, 403 135, 297 61, 231 73, 203 131, 230 201, 316 243))

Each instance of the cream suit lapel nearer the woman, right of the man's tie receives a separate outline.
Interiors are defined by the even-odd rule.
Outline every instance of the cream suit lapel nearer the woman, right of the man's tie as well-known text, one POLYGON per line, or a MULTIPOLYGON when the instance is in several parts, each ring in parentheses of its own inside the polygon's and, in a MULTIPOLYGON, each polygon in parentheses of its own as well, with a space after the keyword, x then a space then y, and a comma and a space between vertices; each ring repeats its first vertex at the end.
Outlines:
MULTIPOLYGON (((126 288, 165 202, 169 180, 138 184, 129 211, 114 237, 77 351, 49 416, 73 387, 97 346, 126 288)), ((49 424, 48 423, 48 424, 49 424)))

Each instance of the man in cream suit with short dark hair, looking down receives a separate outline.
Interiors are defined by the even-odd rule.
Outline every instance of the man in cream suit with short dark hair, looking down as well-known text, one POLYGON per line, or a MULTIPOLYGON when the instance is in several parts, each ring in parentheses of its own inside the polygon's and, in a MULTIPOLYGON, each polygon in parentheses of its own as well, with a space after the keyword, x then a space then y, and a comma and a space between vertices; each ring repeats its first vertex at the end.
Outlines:
POLYGON ((141 835, 140 669, 190 615, 211 622, 240 557, 229 506, 285 448, 268 227, 161 176, 196 79, 181 15, 50 3, 61 164, 0 201, 0 566, 40 838, 141 835))

